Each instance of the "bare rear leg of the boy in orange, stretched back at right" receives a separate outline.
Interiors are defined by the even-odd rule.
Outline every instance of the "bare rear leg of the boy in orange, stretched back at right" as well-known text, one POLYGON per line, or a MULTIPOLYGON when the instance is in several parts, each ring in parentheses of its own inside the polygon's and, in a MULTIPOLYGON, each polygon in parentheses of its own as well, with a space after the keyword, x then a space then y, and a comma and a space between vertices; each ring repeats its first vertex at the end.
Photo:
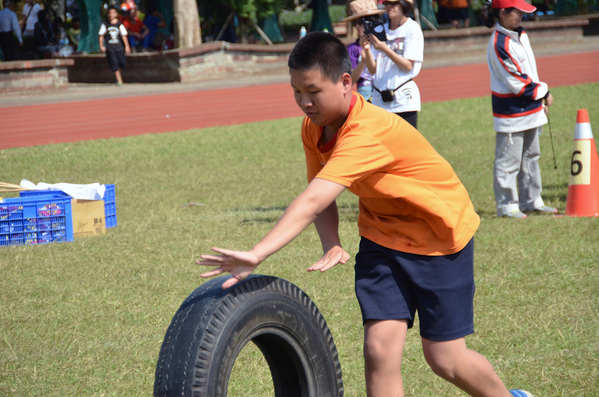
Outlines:
POLYGON ((491 363, 469 350, 464 338, 444 342, 422 338, 422 350, 435 374, 471 396, 511 397, 491 363))

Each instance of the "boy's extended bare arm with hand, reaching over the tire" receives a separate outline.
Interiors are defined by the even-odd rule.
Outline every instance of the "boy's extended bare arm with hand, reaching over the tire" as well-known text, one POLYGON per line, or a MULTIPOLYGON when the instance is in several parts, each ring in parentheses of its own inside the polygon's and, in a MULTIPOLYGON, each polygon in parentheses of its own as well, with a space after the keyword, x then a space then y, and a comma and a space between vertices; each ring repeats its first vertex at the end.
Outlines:
POLYGON ((232 278, 223 284, 223 288, 229 288, 245 279, 262 261, 290 243, 314 222, 343 190, 345 187, 335 182, 314 179, 306 190, 291 202, 275 227, 250 251, 230 251, 214 247, 212 250, 220 255, 201 255, 202 260, 196 261, 197 264, 216 267, 202 274, 202 277, 231 273, 232 278))

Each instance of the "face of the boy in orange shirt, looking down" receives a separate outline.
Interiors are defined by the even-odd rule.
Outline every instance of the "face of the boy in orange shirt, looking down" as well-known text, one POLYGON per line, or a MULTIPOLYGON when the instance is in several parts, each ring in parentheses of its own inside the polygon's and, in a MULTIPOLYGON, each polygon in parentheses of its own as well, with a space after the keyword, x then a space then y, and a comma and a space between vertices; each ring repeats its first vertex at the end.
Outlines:
POLYGON ((341 128, 349 109, 351 76, 343 74, 339 81, 331 81, 320 69, 289 71, 295 102, 316 125, 341 128))

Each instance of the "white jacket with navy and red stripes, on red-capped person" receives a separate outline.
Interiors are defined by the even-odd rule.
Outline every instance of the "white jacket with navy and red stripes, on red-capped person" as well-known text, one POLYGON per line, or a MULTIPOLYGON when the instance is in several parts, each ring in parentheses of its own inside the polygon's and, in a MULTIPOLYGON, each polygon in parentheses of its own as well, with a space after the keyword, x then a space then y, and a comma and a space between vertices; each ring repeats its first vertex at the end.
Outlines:
POLYGON ((522 27, 499 24, 487 47, 491 73, 493 125, 497 132, 521 132, 547 123, 542 99, 549 92, 539 81, 537 63, 522 27))

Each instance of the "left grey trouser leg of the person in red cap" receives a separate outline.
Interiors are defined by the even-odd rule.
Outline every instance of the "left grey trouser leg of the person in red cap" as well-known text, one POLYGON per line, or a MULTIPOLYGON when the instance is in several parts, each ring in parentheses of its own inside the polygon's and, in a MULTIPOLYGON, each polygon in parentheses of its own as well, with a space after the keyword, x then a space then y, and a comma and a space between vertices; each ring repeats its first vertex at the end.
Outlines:
POLYGON ((519 210, 518 174, 522 164, 523 133, 497 133, 493 166, 497 215, 504 216, 519 210))

